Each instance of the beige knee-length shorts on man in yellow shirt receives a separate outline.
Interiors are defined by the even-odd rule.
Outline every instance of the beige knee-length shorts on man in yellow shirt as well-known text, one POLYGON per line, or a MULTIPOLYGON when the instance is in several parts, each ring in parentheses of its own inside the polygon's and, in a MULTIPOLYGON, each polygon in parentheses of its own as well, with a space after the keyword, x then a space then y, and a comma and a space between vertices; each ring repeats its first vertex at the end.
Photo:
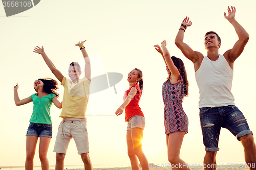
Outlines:
POLYGON ((89 153, 86 118, 63 118, 59 125, 53 152, 66 154, 74 138, 78 154, 89 153))

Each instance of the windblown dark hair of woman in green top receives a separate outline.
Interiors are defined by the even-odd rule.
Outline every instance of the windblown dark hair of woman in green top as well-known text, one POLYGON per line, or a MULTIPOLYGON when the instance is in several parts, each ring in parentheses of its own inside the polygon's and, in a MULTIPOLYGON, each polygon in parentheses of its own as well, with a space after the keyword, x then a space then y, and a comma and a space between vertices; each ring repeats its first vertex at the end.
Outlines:
MULTIPOLYGON (((44 78, 44 79, 38 79, 41 80, 44 83, 44 86, 42 86, 42 92, 46 92, 48 94, 55 94, 57 98, 59 97, 59 94, 56 92, 58 89, 58 83, 56 80, 51 79, 51 78, 44 78)), ((35 89, 35 86, 34 86, 35 89)), ((35 89, 37 92, 36 95, 38 95, 38 91, 35 89)))

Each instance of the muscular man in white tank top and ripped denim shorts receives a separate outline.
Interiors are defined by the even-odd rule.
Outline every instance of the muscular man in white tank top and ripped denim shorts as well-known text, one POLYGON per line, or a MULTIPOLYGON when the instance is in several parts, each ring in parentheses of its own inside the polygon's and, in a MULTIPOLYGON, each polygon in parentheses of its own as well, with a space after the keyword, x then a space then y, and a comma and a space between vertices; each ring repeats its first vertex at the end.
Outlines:
MULTIPOLYGON (((256 147, 252 132, 246 122, 243 113, 234 106, 234 98, 231 93, 231 82, 233 79, 233 63, 244 50, 249 40, 245 29, 234 18, 236 8, 228 7, 228 15, 224 17, 234 27, 239 40, 232 49, 219 55, 221 39, 215 32, 207 32, 204 37, 204 45, 207 56, 193 51, 183 42, 184 32, 192 25, 189 18, 182 21, 181 27, 175 39, 175 44, 186 58, 194 63, 196 81, 200 93, 200 122, 205 145, 204 164, 216 163, 216 154, 219 151, 218 142, 221 128, 228 129, 241 141, 244 147, 245 161, 248 165, 256 163, 256 147)), ((205 169, 216 169, 216 166, 207 166, 205 169), (210 168, 208 168, 210 167, 210 168)), ((255 169, 255 166, 250 166, 255 169)))

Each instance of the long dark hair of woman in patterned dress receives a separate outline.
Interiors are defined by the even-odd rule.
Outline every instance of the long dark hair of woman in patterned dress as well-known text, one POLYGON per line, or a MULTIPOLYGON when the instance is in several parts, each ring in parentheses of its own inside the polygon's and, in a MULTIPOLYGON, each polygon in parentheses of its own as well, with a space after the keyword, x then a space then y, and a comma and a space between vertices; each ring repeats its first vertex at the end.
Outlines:
MULTIPOLYGON (((178 57, 175 57, 175 56, 172 56, 171 57, 173 62, 174 62, 174 65, 178 68, 179 72, 180 72, 180 77, 179 77, 179 80, 183 79, 183 89, 184 89, 184 96, 188 96, 188 81, 187 81, 187 72, 186 72, 186 69, 185 69, 185 65, 183 63, 183 61, 178 58, 178 57)), ((169 81, 170 79, 170 74, 169 76, 167 77, 167 80, 166 81, 169 81)))

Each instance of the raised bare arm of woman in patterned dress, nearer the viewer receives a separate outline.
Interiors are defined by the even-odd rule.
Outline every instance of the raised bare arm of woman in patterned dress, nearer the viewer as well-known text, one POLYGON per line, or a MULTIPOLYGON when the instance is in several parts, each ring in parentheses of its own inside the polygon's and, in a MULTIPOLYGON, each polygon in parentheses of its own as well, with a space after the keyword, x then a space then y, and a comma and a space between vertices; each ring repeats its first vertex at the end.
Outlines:
POLYGON ((168 65, 168 68, 170 69, 170 72, 178 80, 178 78, 180 77, 180 72, 179 72, 178 68, 174 65, 174 62, 173 62, 172 58, 170 58, 170 53, 166 48, 166 41, 163 41, 161 43, 161 47, 162 47, 162 50, 163 50, 164 59, 165 59, 167 65, 168 65))

